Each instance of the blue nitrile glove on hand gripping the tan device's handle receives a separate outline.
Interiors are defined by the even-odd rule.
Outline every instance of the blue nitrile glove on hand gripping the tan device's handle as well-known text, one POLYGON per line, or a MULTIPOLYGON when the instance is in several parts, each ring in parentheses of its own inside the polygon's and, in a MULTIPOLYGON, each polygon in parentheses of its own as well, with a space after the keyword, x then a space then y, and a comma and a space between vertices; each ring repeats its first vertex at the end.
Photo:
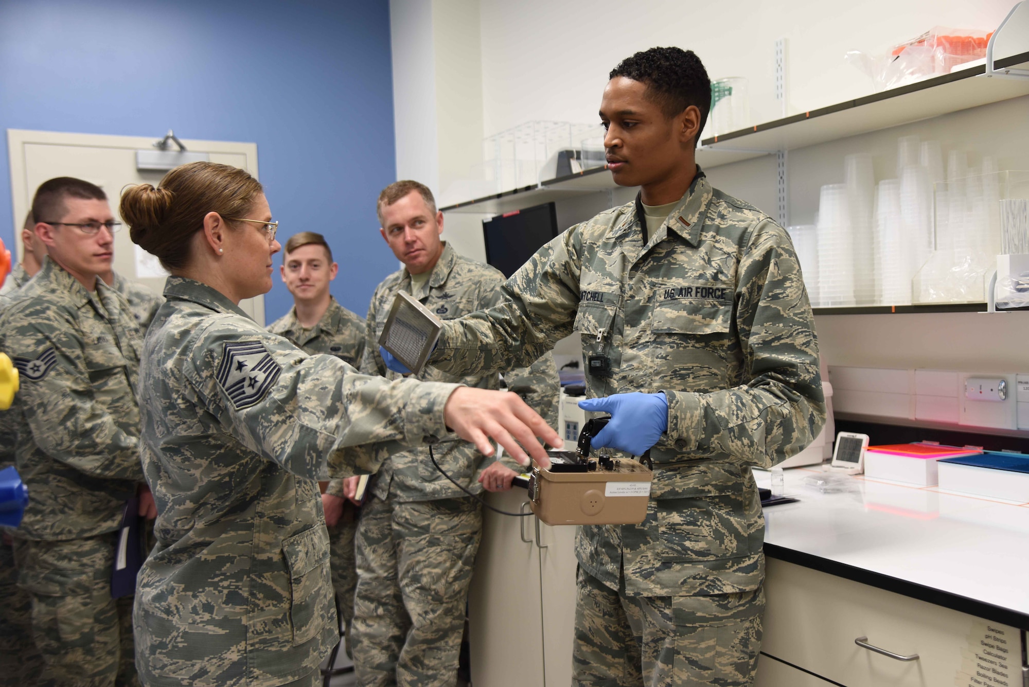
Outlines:
POLYGON ((668 399, 665 394, 614 394, 579 401, 579 407, 594 412, 608 412, 611 421, 593 438, 594 448, 616 448, 633 456, 658 443, 668 429, 668 399))

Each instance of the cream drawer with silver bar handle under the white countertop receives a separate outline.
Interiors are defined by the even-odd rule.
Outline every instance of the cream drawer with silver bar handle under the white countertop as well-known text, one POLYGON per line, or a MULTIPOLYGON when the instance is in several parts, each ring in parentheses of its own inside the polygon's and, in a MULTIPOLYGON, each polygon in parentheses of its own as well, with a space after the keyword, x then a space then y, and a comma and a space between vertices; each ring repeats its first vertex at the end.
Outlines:
POLYGON ((984 660, 1017 684, 1021 638, 1013 627, 775 558, 767 570, 761 650, 771 656, 847 687, 953 685, 984 660), (880 655, 855 645, 859 637, 919 658, 880 655))

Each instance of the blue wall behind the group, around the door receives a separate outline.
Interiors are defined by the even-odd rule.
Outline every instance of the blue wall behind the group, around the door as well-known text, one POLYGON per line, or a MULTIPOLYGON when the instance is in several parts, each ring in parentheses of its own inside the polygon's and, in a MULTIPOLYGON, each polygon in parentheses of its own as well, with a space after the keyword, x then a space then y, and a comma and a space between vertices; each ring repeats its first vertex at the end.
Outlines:
MULTIPOLYGON (((332 293, 367 312, 396 269, 375 213, 396 178, 388 0, 0 0, 0 129, 156 139, 169 128, 255 142, 281 243, 323 232, 340 262, 332 293)), ((0 150, 0 239, 12 247, 6 134, 0 150)), ((269 322, 292 304, 275 282, 269 322)))

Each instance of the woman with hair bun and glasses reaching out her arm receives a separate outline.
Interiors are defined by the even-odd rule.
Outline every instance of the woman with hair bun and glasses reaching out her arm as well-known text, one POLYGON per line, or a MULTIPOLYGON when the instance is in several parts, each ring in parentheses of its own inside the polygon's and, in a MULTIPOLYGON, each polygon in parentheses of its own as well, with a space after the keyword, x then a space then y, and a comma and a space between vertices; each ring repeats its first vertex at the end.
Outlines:
MULTIPOLYGON (((557 433, 514 394, 358 374, 239 309, 272 285, 276 224, 249 174, 210 162, 129 189, 132 240, 172 273, 141 360, 141 455, 157 504, 139 575, 146 685, 314 685, 339 640, 316 479, 374 472, 447 427, 527 462, 557 433)), ((537 456, 538 455, 538 456, 537 456)))

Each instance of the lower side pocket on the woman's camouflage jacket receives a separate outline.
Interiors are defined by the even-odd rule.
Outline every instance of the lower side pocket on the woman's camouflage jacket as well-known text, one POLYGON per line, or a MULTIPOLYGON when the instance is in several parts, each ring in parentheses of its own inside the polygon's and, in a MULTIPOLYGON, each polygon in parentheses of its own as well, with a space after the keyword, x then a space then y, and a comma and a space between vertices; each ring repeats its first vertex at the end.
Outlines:
POLYGON ((282 542, 289 568, 289 620, 293 646, 308 642, 332 623, 332 584, 329 579, 328 532, 313 527, 282 542))

